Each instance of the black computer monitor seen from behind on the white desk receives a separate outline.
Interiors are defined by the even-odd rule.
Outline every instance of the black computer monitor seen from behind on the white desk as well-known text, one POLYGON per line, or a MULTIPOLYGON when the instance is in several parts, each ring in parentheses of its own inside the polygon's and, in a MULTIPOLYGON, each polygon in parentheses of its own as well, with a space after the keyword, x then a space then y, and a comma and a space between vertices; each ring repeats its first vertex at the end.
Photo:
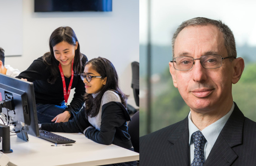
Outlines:
POLYGON ((27 133, 39 137, 33 83, 0 73, 0 112, 15 127, 19 138, 28 141, 27 133))

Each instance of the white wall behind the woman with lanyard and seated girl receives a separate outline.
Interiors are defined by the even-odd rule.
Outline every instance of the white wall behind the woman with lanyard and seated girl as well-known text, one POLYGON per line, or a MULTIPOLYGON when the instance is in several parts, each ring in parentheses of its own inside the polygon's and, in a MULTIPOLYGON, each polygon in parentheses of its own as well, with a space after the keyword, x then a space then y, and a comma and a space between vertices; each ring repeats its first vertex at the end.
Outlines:
POLYGON ((139 62, 139 1, 113 0, 112 10, 35 13, 34 0, 23 0, 23 54, 7 57, 6 64, 26 70, 34 59, 49 51, 51 33, 60 26, 70 26, 78 37, 81 53, 88 59, 102 56, 114 64, 121 89, 130 95, 128 103, 135 106, 131 62, 139 62))

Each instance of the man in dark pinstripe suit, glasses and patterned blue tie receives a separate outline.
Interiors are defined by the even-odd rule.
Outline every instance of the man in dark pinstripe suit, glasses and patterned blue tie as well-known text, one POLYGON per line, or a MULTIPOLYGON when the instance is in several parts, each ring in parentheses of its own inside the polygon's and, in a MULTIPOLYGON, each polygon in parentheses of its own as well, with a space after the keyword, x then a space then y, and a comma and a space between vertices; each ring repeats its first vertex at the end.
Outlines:
POLYGON ((141 166, 255 166, 256 122, 232 98, 244 61, 221 21, 184 21, 172 40, 173 83, 190 107, 182 121, 140 138, 141 166))

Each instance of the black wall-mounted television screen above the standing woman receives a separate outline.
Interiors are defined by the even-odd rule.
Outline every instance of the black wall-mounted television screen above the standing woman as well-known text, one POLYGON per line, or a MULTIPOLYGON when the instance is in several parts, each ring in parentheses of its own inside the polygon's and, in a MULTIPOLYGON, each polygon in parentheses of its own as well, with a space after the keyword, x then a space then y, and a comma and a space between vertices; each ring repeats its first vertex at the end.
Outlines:
POLYGON ((34 0, 35 12, 112 11, 112 0, 34 0))

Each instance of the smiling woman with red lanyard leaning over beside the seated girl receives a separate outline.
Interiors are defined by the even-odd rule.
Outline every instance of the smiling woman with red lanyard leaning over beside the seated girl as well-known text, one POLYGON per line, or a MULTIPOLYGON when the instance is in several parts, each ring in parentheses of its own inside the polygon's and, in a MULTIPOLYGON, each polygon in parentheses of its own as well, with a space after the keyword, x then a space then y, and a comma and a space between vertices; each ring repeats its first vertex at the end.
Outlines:
POLYGON ((59 27, 49 39, 50 52, 34 62, 19 79, 33 82, 39 123, 66 122, 82 108, 85 86, 80 73, 88 61, 80 53, 77 36, 70 27, 59 27), (67 105, 70 90, 74 97, 67 105))

